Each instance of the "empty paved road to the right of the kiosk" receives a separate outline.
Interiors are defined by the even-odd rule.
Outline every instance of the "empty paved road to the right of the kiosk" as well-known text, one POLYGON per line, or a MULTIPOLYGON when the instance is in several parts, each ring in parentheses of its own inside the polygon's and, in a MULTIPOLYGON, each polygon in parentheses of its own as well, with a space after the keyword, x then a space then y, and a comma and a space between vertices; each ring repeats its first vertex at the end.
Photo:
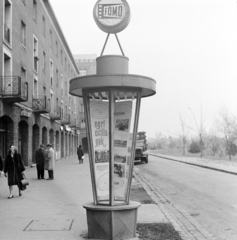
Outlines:
POLYGON ((149 156, 135 164, 145 179, 216 239, 237 239, 237 176, 149 156))

